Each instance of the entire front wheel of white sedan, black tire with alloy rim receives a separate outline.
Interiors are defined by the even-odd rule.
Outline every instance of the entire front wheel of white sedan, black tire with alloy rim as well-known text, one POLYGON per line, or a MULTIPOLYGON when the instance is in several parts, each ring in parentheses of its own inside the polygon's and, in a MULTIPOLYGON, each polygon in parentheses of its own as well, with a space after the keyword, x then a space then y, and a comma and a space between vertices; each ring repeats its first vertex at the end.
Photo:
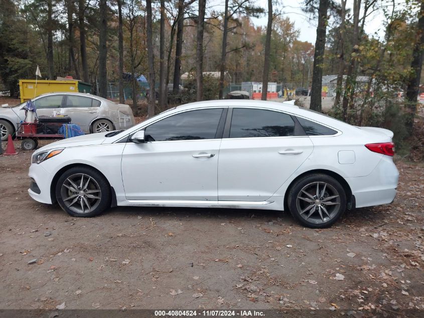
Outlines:
POLYGON ((57 181, 55 192, 56 199, 60 207, 69 215, 78 218, 90 218, 99 215, 105 209, 110 207, 112 197, 110 185, 109 182, 107 182, 107 179, 97 170, 82 166, 73 167, 65 171, 57 181), (83 175, 83 186, 82 188, 77 188, 75 189, 76 191, 73 191, 69 188, 69 185, 73 188, 72 183, 70 183, 69 180, 73 181, 79 187, 81 185, 80 175, 83 175), (89 182, 87 182, 87 180, 89 180, 89 182), (85 183, 87 183, 86 193, 84 193, 85 183), (97 191, 97 188, 100 191, 97 191), (84 194, 84 197, 81 196, 82 194, 84 194), (73 197, 71 198, 72 195, 73 197), (72 203, 75 197, 77 199, 74 203, 72 203), (69 199, 67 200, 67 198, 69 199), (83 201, 82 204, 81 201, 83 201))

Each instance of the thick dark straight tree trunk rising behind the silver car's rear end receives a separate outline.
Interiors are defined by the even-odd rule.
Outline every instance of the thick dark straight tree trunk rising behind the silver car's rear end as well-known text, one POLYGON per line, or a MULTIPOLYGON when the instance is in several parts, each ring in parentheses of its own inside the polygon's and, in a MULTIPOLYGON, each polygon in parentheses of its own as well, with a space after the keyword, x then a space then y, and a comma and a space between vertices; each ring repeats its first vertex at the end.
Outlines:
POLYGON ((99 95, 107 98, 107 2, 100 0, 99 26, 99 95))

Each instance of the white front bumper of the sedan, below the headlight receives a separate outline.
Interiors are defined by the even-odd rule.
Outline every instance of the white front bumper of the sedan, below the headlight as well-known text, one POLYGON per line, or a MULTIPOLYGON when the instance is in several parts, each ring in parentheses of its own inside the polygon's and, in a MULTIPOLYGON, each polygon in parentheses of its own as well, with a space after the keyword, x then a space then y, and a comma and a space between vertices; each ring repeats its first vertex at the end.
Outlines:
POLYGON ((30 166, 28 176, 32 179, 31 182, 36 184, 36 186, 31 184, 28 189, 28 194, 36 201, 52 204, 50 185, 53 180, 53 175, 48 173, 41 164, 33 163, 30 166))

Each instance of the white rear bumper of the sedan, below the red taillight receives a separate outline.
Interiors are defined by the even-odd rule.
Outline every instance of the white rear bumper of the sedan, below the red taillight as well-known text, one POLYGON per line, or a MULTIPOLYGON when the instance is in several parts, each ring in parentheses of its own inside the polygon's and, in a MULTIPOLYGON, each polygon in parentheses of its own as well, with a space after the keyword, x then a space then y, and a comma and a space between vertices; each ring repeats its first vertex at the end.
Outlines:
POLYGON ((356 207, 364 207, 393 202, 398 178, 392 158, 383 156, 369 175, 346 178, 346 181, 355 196, 356 207))

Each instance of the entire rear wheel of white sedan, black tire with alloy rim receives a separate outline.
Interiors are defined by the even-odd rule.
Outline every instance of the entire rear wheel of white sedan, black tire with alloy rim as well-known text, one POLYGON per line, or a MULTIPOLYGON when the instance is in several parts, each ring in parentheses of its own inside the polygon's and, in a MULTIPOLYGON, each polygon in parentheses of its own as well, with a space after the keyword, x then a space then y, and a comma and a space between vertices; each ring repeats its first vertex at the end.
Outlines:
POLYGON ((346 191, 335 178, 314 173, 292 185, 287 203, 292 216, 302 225, 313 229, 327 228, 346 210, 346 191))

